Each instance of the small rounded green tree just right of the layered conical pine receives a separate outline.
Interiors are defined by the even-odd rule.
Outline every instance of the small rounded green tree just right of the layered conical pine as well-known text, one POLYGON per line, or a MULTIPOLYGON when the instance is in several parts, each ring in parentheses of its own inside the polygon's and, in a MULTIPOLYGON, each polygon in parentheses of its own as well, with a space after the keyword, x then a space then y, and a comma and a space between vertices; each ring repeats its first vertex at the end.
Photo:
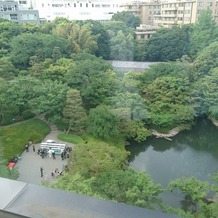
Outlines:
POLYGON ((104 105, 90 110, 88 131, 96 138, 111 140, 119 135, 119 119, 104 105))

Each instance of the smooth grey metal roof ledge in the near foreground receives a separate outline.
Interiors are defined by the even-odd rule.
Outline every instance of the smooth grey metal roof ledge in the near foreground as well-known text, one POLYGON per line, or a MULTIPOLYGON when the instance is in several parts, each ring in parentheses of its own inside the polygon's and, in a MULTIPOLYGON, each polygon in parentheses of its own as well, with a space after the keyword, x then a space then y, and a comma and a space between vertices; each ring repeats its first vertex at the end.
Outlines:
POLYGON ((0 178, 1 218, 176 218, 159 211, 0 178))

